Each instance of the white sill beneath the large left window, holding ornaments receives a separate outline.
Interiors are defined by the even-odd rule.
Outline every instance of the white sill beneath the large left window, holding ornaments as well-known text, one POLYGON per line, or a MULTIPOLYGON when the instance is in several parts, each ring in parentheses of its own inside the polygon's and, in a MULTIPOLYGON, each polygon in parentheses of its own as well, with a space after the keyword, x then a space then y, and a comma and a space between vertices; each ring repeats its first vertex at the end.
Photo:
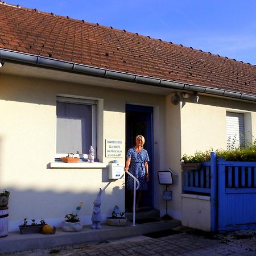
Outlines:
POLYGON ((78 163, 63 163, 60 161, 49 163, 49 168, 66 168, 66 169, 92 169, 92 168, 106 168, 108 163, 100 162, 78 162, 78 163))

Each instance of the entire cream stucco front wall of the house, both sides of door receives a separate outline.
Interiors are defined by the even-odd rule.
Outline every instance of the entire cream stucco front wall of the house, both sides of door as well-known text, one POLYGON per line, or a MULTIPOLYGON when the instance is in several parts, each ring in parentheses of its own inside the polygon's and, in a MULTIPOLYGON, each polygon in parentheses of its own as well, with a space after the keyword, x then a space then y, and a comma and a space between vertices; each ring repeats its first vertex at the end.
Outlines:
MULTIPOLYGON (((198 104, 181 101, 171 103, 171 97, 150 93, 101 87, 75 82, 53 81, 19 76, 0 76, 0 189, 11 192, 10 230, 18 229, 23 218, 44 218, 60 226, 65 214, 84 202, 80 217, 90 224, 93 201, 98 189, 102 194, 102 217, 108 217, 115 204, 125 207, 125 180, 108 179, 107 168, 49 168, 55 159, 56 96, 85 97, 99 100, 98 159, 109 163, 105 156, 105 140, 125 142, 125 105, 154 107, 153 163, 154 207, 166 213, 163 201, 164 185, 158 183, 158 171, 170 167, 173 176, 172 201, 168 214, 181 220, 184 207, 181 200, 180 158, 197 150, 226 147, 226 111, 245 113, 246 130, 256 135, 255 105, 200 96, 198 104)), ((122 82, 120 82, 122 83, 122 82)), ((95 84, 95 82, 94 82, 95 84)), ((139 85, 137 85, 139 86, 139 85)), ((249 134, 249 133, 248 133, 249 134)), ((247 135, 252 139, 251 135, 247 135)), ((119 158, 125 163, 125 154, 119 158)), ((184 215, 185 216, 185 215, 184 215)))

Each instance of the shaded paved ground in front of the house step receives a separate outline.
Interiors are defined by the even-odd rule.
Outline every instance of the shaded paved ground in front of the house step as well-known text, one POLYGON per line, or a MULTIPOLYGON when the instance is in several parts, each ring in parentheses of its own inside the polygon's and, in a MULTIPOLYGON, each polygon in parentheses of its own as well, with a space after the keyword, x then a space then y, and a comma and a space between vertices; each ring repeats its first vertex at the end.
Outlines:
POLYGON ((183 233, 156 239, 137 236, 2 255, 256 255, 256 230, 229 232, 209 238, 197 230, 181 228, 181 231, 183 233))

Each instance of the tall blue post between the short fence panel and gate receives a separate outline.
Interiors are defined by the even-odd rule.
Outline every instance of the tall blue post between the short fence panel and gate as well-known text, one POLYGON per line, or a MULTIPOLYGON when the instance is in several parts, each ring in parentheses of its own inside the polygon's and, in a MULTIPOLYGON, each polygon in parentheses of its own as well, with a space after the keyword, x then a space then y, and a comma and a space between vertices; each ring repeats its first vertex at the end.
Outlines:
POLYGON ((210 231, 217 229, 217 157, 210 152, 210 231))

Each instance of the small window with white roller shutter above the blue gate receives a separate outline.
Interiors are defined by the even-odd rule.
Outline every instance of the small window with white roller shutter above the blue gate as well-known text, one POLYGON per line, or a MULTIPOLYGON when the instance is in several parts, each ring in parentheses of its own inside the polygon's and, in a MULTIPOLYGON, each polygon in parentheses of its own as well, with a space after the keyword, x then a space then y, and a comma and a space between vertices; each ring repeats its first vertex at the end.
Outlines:
POLYGON ((226 112, 227 148, 245 147, 245 125, 242 113, 226 112))

